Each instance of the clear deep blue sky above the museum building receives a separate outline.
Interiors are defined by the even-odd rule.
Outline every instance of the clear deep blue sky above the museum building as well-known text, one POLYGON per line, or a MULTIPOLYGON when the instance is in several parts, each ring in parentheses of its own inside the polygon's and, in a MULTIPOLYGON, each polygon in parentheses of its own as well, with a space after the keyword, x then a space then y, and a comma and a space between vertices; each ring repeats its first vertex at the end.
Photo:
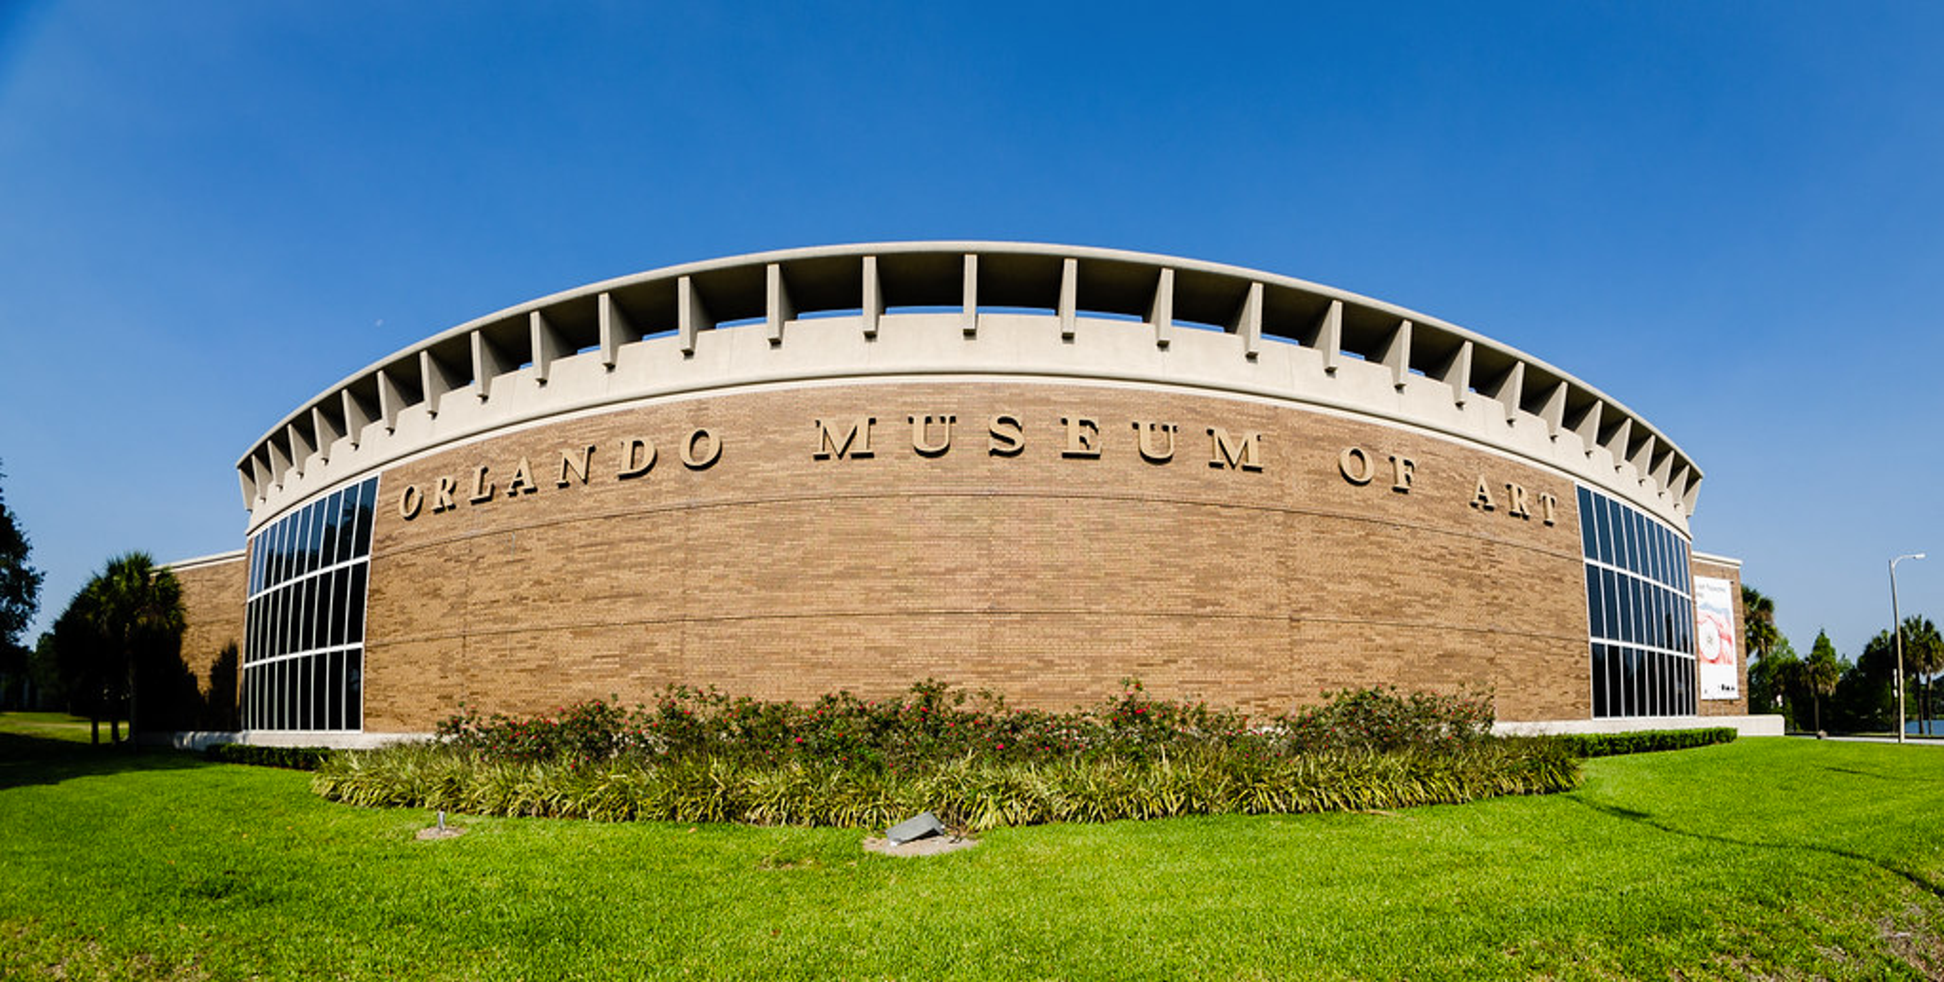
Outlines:
POLYGON ((43 624, 241 544, 235 459, 426 334, 867 239, 1145 249, 1555 362, 1808 651, 1944 618, 1944 6, 0 0, 0 463, 43 624))

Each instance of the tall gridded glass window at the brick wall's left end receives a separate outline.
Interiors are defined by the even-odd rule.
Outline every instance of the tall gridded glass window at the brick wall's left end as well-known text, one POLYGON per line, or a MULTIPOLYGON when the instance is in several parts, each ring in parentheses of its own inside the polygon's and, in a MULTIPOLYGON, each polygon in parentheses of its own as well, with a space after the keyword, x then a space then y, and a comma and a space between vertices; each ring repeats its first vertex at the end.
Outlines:
POLYGON ((377 478, 276 519, 249 541, 245 729, 362 729, 364 614, 377 478))

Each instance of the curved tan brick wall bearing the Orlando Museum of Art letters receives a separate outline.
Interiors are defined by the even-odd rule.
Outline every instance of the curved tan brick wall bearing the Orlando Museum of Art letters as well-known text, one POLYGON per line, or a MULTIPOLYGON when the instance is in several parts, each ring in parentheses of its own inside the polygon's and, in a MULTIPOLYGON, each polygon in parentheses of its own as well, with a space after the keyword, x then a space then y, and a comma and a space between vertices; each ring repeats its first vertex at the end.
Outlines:
POLYGON ((1425 432, 1147 387, 745 389, 387 469, 365 729, 669 683, 809 698, 935 677, 1067 708, 1128 675, 1254 712, 1357 684, 1489 686, 1505 719, 1584 719, 1582 570, 1569 478, 1425 432), (951 447, 914 451, 912 414, 955 416, 951 447), (989 449, 999 414, 1021 424, 1017 455, 989 449), (816 420, 857 416, 877 420, 873 455, 816 459, 816 420), (1098 424, 1098 457, 1065 453, 1067 418, 1098 424), (1172 461, 1143 459, 1135 422, 1178 426, 1172 461), (721 439, 706 469, 682 463, 696 428, 721 439), (1229 467, 1209 428, 1260 432, 1262 469, 1229 467), (622 480, 630 438, 657 459, 622 480), (585 484, 558 486, 562 451, 587 445, 585 484), (1345 478, 1347 447, 1369 482, 1345 478), (1409 492, 1392 455, 1415 465, 1409 492), (509 498, 523 457, 537 488, 509 498), (478 465, 486 504, 469 502, 478 465), (435 513, 441 476, 457 504, 435 513), (1530 517, 1510 515, 1509 484, 1530 517))

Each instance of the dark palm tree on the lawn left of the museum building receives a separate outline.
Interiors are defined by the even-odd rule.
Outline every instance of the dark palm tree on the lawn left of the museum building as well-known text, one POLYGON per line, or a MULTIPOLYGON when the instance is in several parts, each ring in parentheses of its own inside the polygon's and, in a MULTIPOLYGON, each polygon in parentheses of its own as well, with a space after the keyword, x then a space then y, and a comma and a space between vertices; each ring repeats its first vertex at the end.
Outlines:
MULTIPOLYGON (((136 679, 142 655, 157 642, 183 634, 183 585, 148 552, 128 552, 109 560, 86 589, 87 620, 103 642, 113 669, 105 683, 117 686, 115 702, 128 702, 128 737, 140 727, 136 679)), ((109 739, 121 743, 119 719, 109 719, 109 739)))

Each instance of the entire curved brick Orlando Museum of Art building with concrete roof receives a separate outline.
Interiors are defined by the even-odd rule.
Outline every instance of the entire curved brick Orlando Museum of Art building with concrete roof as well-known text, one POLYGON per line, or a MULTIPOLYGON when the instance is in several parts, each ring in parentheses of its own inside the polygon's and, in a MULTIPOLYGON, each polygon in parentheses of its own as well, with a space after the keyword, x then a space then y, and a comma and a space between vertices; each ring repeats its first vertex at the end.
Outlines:
POLYGON ((173 570, 185 661, 235 644, 251 741, 921 679, 1750 723, 1738 562, 1693 552, 1666 434, 1462 327, 1215 263, 955 241, 624 276, 365 366, 237 476, 245 548, 173 570))

